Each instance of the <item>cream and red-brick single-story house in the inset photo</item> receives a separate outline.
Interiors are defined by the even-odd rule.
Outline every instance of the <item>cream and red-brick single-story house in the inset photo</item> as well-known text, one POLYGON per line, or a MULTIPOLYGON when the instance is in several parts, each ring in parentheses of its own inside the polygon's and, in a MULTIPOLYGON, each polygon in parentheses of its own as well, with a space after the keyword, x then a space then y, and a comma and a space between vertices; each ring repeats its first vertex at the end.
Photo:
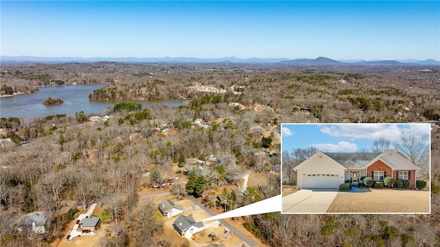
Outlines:
POLYGON ((409 180, 415 188, 418 167, 394 150, 385 153, 324 153, 318 151, 294 168, 298 188, 337 189, 345 180, 358 184, 361 177, 384 181, 409 180))

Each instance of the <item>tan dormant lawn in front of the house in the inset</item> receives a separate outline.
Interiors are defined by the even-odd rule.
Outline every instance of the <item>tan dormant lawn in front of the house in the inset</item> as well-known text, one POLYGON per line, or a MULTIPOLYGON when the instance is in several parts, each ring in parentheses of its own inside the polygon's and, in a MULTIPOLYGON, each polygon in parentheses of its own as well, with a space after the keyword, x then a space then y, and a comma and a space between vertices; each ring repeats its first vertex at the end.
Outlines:
POLYGON ((327 213, 430 213, 429 191, 371 189, 338 193, 327 213))

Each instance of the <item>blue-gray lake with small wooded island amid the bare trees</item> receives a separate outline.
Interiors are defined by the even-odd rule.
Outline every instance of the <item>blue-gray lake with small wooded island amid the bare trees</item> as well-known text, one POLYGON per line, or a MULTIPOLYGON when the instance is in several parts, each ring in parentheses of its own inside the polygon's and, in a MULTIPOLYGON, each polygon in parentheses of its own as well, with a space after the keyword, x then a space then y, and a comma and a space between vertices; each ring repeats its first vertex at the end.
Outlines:
POLYGON ((142 108, 151 104, 179 107, 181 100, 124 100, 124 101, 90 101, 89 94, 104 85, 79 85, 64 87, 40 87, 39 92, 32 94, 17 94, 13 97, 0 98, 0 117, 9 118, 43 118, 49 115, 67 114, 74 115, 78 111, 85 114, 102 114, 107 107, 120 102, 142 103, 142 108), (45 98, 61 98, 61 105, 43 105, 45 98))

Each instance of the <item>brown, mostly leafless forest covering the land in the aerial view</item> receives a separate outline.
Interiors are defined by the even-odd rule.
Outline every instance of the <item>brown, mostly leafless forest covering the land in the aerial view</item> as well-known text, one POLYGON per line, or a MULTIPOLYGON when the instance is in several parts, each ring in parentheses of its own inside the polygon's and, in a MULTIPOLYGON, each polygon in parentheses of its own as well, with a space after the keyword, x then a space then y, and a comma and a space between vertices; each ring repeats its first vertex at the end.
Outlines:
MULTIPOLYGON (((101 228, 109 233, 98 246, 190 246, 164 237, 157 205, 141 203, 140 191, 164 184, 176 196, 202 197, 219 211, 278 195, 281 175, 270 171, 280 164, 281 123, 438 121, 440 67, 420 69, 106 62, 2 66, 2 95, 12 88, 98 83, 103 88, 91 100, 179 98, 182 105, 142 109, 138 103, 120 103, 100 114, 108 114, 108 120, 90 118, 82 109, 74 116, 1 118, 0 246, 57 246, 74 224, 72 208, 92 202, 98 203, 101 228), (250 170, 264 179, 236 193, 231 188, 250 170), (175 177, 175 184, 165 185, 175 177), (218 195, 228 203, 217 202, 218 195), (50 215, 47 232, 19 231, 21 217, 35 211, 50 215)), ((267 246, 439 246, 440 131, 433 126, 430 215, 268 213, 239 220, 267 246)))

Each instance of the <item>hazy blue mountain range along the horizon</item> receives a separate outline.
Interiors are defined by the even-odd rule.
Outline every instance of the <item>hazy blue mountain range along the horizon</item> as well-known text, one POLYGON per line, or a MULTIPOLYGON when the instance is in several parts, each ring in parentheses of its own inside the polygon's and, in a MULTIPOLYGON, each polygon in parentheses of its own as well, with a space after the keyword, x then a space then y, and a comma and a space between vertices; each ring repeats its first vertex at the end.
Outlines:
POLYGON ((39 57, 39 56, 0 56, 1 62, 38 62, 38 63, 94 63, 100 61, 112 61, 120 63, 278 63, 281 65, 373 65, 373 66, 400 66, 400 65, 440 65, 440 61, 427 59, 423 61, 415 59, 406 60, 340 60, 320 56, 315 59, 306 58, 236 58, 234 56, 222 58, 188 58, 188 57, 164 57, 164 58, 110 58, 110 57, 39 57))

